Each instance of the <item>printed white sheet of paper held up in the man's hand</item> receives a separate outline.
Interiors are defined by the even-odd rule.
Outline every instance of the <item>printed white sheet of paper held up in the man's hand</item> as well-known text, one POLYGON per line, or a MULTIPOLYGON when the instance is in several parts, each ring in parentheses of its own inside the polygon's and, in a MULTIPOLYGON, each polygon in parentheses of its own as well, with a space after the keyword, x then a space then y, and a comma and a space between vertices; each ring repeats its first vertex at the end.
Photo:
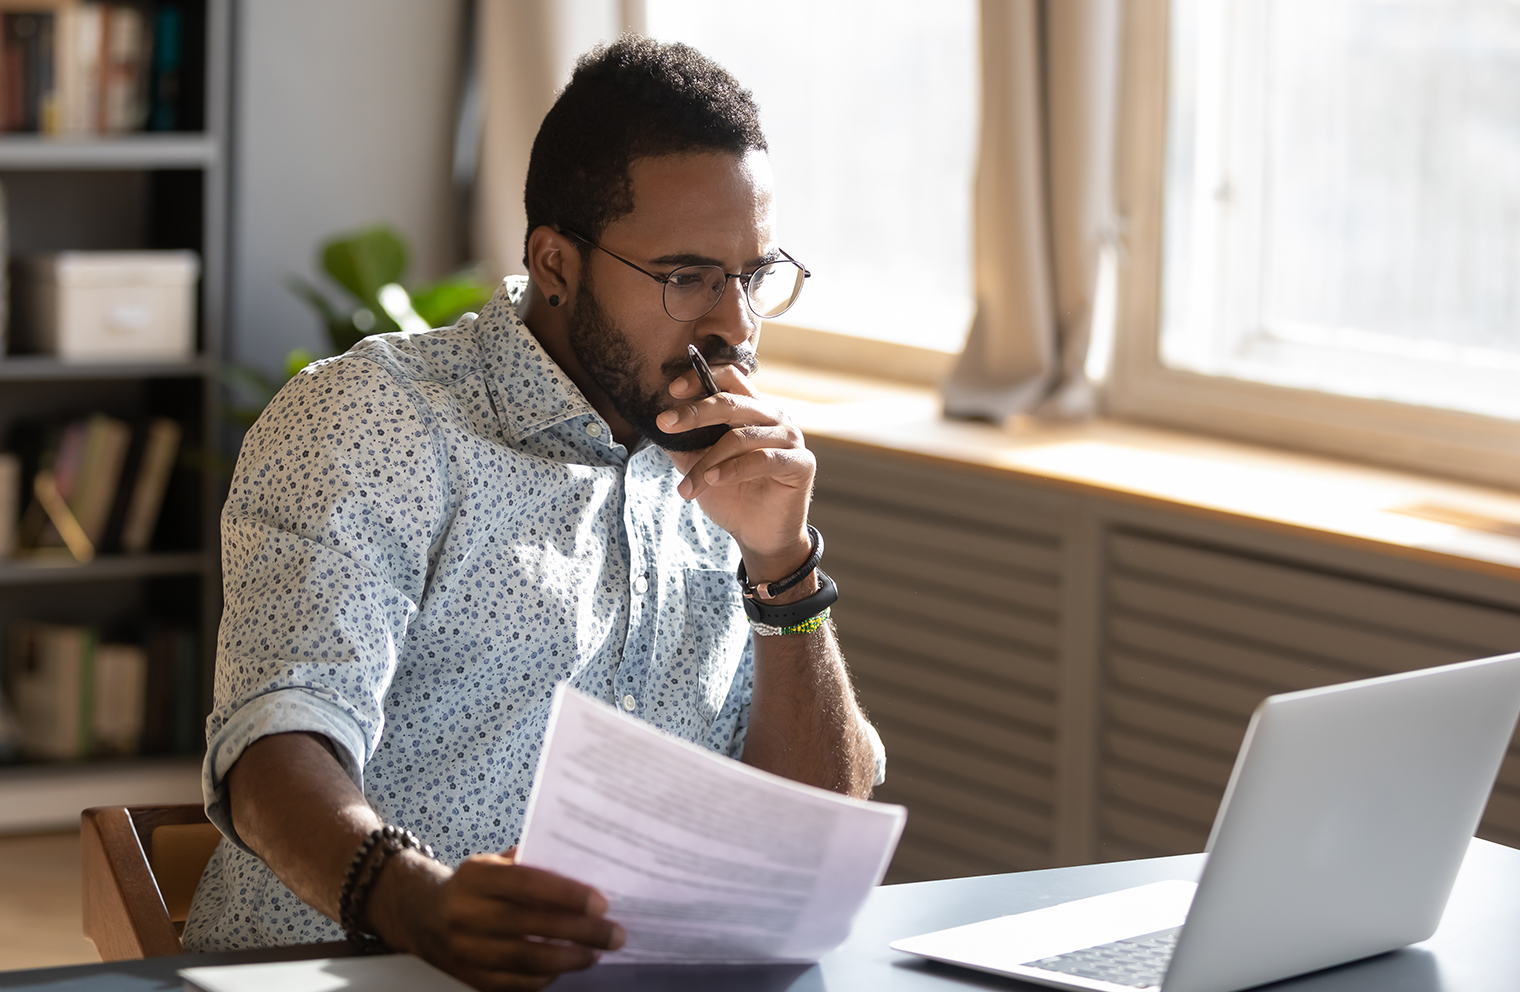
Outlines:
POLYGON ((628 943, 603 963, 813 962, 850 934, 906 819, 561 685, 518 858, 606 896, 628 943))

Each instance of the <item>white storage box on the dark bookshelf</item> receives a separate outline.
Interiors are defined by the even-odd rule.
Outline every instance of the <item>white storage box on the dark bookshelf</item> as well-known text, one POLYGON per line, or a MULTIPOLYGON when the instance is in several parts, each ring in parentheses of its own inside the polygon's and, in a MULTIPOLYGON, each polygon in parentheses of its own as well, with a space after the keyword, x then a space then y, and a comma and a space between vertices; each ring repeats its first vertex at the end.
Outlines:
POLYGON ((18 266, 12 349, 74 362, 188 359, 195 284, 187 251, 56 252, 18 266))

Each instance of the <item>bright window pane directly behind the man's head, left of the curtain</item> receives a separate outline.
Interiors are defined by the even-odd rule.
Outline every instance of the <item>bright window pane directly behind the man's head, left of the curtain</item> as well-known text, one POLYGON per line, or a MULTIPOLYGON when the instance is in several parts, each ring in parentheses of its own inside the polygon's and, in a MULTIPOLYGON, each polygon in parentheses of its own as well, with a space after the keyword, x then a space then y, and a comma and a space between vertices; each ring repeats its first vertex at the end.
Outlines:
POLYGON ((780 242, 813 278, 786 324, 958 351, 971 321, 973 0, 648 0, 754 91, 780 242))

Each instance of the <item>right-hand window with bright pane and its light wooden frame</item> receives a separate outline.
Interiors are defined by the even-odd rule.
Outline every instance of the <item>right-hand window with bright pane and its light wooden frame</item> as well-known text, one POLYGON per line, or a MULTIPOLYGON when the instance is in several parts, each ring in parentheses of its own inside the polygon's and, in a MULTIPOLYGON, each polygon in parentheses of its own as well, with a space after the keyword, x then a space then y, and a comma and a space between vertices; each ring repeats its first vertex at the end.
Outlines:
POLYGON ((1113 407, 1520 477, 1520 5, 1131 9, 1113 407))

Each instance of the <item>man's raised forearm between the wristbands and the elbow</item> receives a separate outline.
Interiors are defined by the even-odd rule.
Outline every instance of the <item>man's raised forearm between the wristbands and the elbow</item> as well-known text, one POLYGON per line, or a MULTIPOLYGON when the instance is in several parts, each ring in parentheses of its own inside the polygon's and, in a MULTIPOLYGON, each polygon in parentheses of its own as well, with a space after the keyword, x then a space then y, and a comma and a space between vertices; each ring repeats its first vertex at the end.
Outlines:
POLYGON ((755 637, 746 764, 859 799, 876 755, 833 624, 813 633, 755 637))

